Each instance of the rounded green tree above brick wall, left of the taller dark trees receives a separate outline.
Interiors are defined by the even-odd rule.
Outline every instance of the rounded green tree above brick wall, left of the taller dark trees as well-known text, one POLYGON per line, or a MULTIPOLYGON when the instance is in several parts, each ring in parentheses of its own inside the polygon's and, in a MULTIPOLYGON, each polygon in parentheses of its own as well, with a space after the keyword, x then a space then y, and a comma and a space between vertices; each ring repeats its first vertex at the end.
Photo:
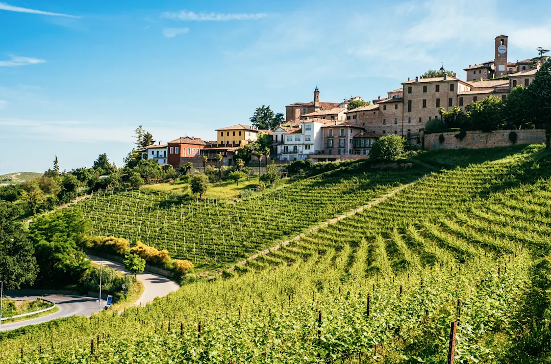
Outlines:
POLYGON ((471 130, 491 132, 503 129, 503 102, 499 97, 488 96, 465 107, 467 127, 471 130))

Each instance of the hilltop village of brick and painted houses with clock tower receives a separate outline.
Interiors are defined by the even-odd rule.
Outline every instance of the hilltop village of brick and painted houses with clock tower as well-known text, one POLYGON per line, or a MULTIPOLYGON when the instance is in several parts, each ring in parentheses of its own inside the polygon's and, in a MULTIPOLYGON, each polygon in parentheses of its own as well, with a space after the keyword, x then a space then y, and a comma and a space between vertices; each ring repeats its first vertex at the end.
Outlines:
POLYGON ((342 102, 321 101, 316 87, 312 101, 285 106, 284 121, 271 130, 237 124, 215 129, 216 140, 186 136, 148 145, 139 152, 144 159, 153 158, 160 165, 170 164, 177 169, 188 162, 203 166, 202 156, 207 156, 209 164, 218 164, 222 155, 223 165, 234 165, 237 149, 255 142, 262 134, 271 138, 272 159, 276 161, 365 158, 372 143, 388 134, 402 135, 412 145, 420 144, 422 131, 441 118, 442 108, 464 111, 467 105, 488 96, 505 100, 516 86, 526 88, 532 83, 541 60, 509 62, 508 51, 507 36, 499 35, 495 37, 494 59, 466 67, 466 80, 442 66, 437 77, 408 78, 400 88, 369 102, 360 96, 342 102))

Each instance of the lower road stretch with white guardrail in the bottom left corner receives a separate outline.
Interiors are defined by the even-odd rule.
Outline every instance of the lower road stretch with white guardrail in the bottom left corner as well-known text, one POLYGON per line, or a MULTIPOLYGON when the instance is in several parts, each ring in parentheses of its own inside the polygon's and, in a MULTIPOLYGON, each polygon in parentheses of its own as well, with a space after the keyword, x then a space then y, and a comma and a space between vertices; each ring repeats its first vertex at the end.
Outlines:
MULTIPOLYGON (((73 315, 90 316, 93 312, 99 311, 98 298, 92 297, 69 295, 18 296, 13 294, 10 295, 10 297, 25 298, 26 300, 36 300, 36 298, 44 297, 45 300, 55 303, 57 307, 59 307, 59 311, 29 320, 23 320, 13 323, 3 323, 0 331, 18 329, 26 325, 35 325, 60 317, 69 317, 73 315)), ((104 306, 105 301, 102 301, 101 309, 103 309, 104 306)))

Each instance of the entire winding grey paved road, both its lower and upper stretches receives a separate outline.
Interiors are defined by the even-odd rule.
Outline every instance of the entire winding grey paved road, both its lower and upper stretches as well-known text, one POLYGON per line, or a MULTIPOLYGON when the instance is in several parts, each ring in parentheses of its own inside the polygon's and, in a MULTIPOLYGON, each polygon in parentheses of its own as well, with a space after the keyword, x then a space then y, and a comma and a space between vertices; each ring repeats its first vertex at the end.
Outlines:
MULTIPOLYGON (((96 256, 88 256, 94 263, 103 263, 107 267, 120 270, 126 274, 130 274, 125 267, 116 262, 111 262, 104 258, 96 256)), ((155 297, 163 297, 168 295, 172 291, 176 291, 180 286, 164 276, 144 272, 138 274, 137 278, 143 282, 144 292, 133 306, 143 306, 145 303, 153 301, 155 297)), ((0 331, 13 330, 26 325, 34 325, 42 322, 50 321, 60 317, 70 317, 73 315, 90 316, 94 312, 98 312, 99 303, 98 298, 83 297, 83 296, 68 296, 68 295, 44 295, 44 296, 18 296, 10 295, 12 298, 25 298, 27 300, 35 300, 37 297, 44 297, 46 300, 56 303, 60 308, 56 313, 52 313, 46 316, 33 318, 30 320, 23 320, 20 322, 14 322, 9 324, 2 324, 0 331)), ((101 301, 101 309, 105 307, 105 300, 101 301)))

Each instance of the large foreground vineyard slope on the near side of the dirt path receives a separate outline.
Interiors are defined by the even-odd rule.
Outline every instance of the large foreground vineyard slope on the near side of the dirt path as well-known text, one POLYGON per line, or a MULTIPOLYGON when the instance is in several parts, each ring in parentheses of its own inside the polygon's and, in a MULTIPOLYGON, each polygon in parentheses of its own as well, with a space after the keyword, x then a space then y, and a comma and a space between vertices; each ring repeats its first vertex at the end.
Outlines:
POLYGON ((442 363, 452 320, 456 361, 520 362, 522 328, 549 330, 531 307, 551 247, 550 161, 532 146, 433 173, 248 273, 19 330, 0 341, 2 362, 442 363))

